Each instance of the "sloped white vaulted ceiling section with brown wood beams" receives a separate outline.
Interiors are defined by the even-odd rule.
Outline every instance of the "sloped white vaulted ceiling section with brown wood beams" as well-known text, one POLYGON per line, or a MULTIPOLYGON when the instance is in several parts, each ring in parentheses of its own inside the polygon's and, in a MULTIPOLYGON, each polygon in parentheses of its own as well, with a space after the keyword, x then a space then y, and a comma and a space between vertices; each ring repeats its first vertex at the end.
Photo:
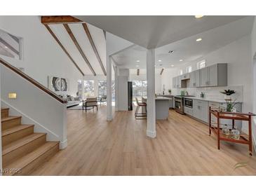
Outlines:
POLYGON ((41 22, 82 75, 106 75, 106 39, 102 29, 69 16, 43 16, 41 22))

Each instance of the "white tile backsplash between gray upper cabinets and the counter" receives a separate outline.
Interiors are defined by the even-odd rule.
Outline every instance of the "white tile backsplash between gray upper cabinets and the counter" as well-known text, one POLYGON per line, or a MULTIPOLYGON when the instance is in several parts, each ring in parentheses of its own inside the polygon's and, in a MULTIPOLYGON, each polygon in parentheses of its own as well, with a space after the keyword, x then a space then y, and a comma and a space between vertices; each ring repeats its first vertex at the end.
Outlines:
POLYGON ((243 86, 227 86, 227 87, 209 87, 209 88, 179 88, 174 92, 175 95, 180 95, 181 90, 187 90, 189 95, 200 97, 201 92, 205 94, 207 99, 224 100, 224 95, 220 91, 234 90, 236 93, 231 95, 232 100, 243 102, 243 86))

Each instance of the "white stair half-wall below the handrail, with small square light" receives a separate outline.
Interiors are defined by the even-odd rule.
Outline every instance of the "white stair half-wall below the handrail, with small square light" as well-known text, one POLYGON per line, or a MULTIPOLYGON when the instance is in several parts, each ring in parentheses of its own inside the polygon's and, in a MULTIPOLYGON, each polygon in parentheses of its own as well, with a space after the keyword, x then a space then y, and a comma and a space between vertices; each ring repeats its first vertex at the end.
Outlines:
POLYGON ((22 116, 23 124, 34 124, 35 132, 46 132, 48 141, 60 141, 67 146, 67 105, 0 64, 1 106, 10 109, 11 116, 22 116), (8 99, 16 92, 17 99, 8 99))

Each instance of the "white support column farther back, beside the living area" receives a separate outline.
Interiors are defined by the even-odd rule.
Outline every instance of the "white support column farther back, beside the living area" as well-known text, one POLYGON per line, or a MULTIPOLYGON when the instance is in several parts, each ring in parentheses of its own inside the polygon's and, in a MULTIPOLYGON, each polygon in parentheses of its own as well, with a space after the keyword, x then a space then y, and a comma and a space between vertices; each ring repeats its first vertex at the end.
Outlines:
POLYGON ((112 60, 107 55, 107 121, 112 121, 112 60))

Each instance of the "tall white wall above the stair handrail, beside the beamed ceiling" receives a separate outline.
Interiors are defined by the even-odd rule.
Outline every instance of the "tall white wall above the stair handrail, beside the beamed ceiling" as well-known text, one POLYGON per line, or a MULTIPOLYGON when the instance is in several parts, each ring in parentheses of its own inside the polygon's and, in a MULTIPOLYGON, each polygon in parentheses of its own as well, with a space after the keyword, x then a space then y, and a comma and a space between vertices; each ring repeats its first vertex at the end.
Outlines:
POLYGON ((22 60, 1 57, 15 67, 24 67, 25 73, 48 87, 48 76, 69 79, 67 94, 76 95, 81 73, 74 67, 58 43, 41 24, 39 16, 1 16, 0 29, 23 39, 22 60))

